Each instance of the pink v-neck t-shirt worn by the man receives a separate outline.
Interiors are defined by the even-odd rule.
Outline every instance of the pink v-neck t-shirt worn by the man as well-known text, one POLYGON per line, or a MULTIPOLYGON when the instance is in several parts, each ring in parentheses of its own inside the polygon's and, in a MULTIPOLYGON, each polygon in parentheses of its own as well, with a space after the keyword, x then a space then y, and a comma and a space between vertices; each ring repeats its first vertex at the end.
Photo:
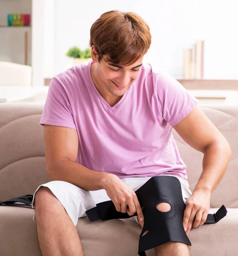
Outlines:
POLYGON ((197 99, 167 73, 155 73, 150 64, 143 64, 137 79, 111 107, 93 83, 91 63, 52 79, 40 124, 76 129, 77 163, 89 169, 120 178, 170 174, 187 180, 171 132, 197 99))

